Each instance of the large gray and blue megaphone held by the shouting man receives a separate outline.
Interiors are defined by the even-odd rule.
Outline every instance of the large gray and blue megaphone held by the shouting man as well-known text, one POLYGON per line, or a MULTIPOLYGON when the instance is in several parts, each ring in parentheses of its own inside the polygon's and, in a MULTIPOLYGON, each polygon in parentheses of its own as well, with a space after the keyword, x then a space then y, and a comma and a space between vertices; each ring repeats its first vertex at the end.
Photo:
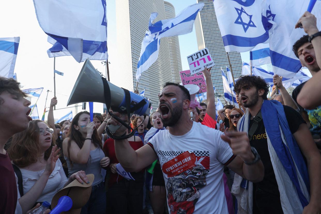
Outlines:
MULTIPOLYGON (((131 113, 139 116, 148 116, 151 110, 151 103, 146 98, 131 91, 128 93, 127 90, 119 88, 107 81, 94 68, 89 59, 87 59, 82 66, 67 106, 82 102, 105 103, 107 107, 109 104, 113 111, 122 113, 125 113, 129 107, 131 113), (127 95, 125 93, 127 93, 127 95)), ((113 133, 117 130, 115 130, 115 128, 116 127, 110 131, 113 133)))

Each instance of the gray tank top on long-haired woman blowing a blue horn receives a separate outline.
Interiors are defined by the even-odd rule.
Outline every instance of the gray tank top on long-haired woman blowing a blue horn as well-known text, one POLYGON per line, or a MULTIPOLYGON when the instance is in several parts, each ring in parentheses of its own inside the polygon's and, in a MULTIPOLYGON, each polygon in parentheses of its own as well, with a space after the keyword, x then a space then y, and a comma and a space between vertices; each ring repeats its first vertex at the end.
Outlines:
POLYGON ((99 184, 103 179, 101 175, 100 160, 104 157, 104 152, 100 148, 97 148, 90 151, 90 157, 88 158, 87 164, 78 164, 73 162, 73 166, 71 166, 69 158, 64 156, 68 166, 68 177, 70 177, 70 175, 74 174, 75 172, 82 170, 85 171, 86 175, 95 175, 94 182, 92 183, 93 186, 99 184))

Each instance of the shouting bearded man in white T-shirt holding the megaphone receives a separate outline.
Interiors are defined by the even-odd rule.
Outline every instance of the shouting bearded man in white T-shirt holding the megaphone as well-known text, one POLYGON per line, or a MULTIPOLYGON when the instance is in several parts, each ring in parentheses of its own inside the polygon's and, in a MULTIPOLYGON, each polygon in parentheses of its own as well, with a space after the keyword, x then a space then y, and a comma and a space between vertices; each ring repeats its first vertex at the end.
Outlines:
MULTIPOLYGON (((115 140, 117 159, 127 172, 137 172, 160 160, 167 189, 169 213, 226 213, 223 167, 249 181, 259 182, 264 167, 247 133, 221 133, 188 117, 190 94, 176 83, 166 83, 159 96, 161 130, 148 144, 134 150, 128 140, 115 140), (215 203, 213 203, 215 201, 215 203)), ((128 116, 114 112, 128 124, 128 116)), ((108 125, 120 125, 113 117, 108 125)), ((126 135, 126 127, 113 133, 126 135)))

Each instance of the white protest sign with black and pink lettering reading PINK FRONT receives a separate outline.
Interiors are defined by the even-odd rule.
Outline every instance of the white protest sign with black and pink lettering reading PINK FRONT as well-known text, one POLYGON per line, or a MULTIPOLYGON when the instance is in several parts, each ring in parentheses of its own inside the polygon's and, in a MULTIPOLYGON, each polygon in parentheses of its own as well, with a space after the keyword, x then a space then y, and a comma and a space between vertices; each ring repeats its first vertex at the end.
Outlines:
POLYGON ((191 74, 203 71, 205 67, 210 68, 214 65, 212 56, 210 55, 207 48, 197 51, 196 53, 187 56, 189 69, 191 74))

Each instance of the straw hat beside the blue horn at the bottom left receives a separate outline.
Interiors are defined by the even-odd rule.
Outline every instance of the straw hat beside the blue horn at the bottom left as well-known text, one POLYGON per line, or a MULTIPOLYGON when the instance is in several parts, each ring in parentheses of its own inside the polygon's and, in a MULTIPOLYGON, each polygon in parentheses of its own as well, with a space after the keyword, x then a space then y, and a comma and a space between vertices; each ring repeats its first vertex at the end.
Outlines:
POLYGON ((55 196, 52 198, 51 201, 51 209, 55 208, 57 206, 58 200, 61 196, 69 196, 73 200, 73 206, 71 209, 67 212, 62 213, 68 213, 68 214, 79 214, 81 211, 81 208, 85 206, 87 201, 89 200, 90 194, 91 194, 91 185, 92 182, 95 179, 94 174, 86 175, 89 181, 89 184, 81 184, 76 179, 68 184, 65 188, 59 190, 55 196))

